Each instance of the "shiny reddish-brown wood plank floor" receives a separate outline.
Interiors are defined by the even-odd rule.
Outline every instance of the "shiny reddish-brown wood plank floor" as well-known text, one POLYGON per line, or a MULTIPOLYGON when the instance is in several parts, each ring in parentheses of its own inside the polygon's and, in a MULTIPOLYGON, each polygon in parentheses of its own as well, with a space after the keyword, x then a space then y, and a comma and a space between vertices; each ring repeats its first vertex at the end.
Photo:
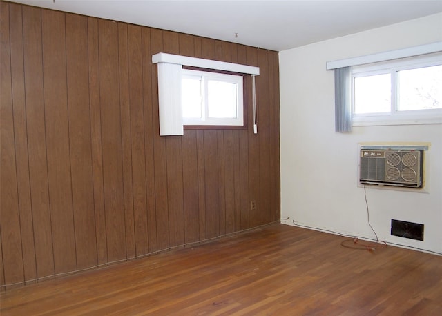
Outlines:
POLYGON ((272 224, 6 290, 0 314, 442 315, 442 257, 345 239, 272 224))

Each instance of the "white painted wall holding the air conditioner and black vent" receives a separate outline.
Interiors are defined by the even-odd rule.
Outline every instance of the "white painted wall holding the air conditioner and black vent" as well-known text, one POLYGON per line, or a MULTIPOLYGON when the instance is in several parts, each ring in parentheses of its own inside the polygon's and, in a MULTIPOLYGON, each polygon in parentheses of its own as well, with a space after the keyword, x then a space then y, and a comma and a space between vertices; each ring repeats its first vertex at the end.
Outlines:
MULTIPOLYGON (((302 31, 300 31, 302 32, 302 31)), ((423 192, 367 188, 379 239, 442 253, 442 124, 361 126, 334 131, 336 59, 442 41, 442 14, 280 52, 282 223, 374 238, 358 186, 358 143, 430 142, 423 192), (391 219, 425 225, 424 241, 390 235, 391 219)))

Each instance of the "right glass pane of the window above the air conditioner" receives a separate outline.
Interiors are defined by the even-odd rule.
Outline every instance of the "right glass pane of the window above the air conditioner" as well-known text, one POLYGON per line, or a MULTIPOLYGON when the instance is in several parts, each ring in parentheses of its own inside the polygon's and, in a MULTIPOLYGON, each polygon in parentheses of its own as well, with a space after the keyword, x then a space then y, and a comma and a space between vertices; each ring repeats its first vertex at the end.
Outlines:
POLYGON ((397 110, 442 108, 442 65, 396 72, 397 110))

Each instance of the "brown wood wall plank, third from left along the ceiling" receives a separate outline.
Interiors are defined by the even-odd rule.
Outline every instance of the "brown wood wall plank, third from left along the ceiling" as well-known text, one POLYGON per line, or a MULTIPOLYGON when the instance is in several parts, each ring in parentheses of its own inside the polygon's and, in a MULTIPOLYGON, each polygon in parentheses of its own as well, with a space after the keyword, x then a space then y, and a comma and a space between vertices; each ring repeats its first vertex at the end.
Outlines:
POLYGON ((29 179, 37 277, 55 273, 46 159, 41 10, 23 11, 23 64, 25 70, 26 124, 29 179))

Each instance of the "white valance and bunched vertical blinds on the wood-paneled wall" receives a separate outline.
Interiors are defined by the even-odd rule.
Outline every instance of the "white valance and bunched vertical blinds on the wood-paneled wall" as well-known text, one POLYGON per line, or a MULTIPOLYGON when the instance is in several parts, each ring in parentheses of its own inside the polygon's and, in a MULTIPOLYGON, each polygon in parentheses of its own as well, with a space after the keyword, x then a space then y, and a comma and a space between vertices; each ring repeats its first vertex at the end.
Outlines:
MULTIPOLYGON (((253 78, 260 74, 259 67, 166 54, 164 52, 153 55, 152 63, 158 63, 158 101, 160 107, 160 135, 162 136, 184 135, 181 107, 182 66, 239 72, 252 75, 253 78), (180 80, 177 80, 177 78, 180 78, 180 80), (180 82, 178 83, 178 81, 180 82)), ((253 106, 253 110, 256 111, 255 106, 253 106)), ((255 117, 255 113, 253 115, 255 117)), ((253 123, 253 128, 256 130, 256 122, 253 123)))

